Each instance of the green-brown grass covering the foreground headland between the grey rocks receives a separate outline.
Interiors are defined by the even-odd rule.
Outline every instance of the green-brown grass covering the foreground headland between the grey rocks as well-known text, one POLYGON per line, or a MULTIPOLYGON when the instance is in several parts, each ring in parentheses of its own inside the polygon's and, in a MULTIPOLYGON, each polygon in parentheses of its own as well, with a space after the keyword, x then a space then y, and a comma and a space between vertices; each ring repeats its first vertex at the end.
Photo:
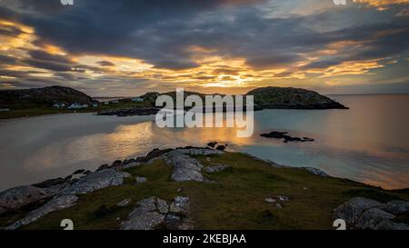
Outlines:
MULTIPOLYGON (((246 154, 225 153, 196 156, 202 164, 231 166, 223 172, 205 174, 214 183, 170 181, 172 167, 157 160, 150 165, 125 170, 133 175, 121 186, 109 187, 80 196, 72 208, 50 213, 25 229, 61 229, 63 219, 71 219, 75 229, 117 229, 135 202, 150 196, 170 201, 176 195, 190 197, 190 217, 196 229, 333 229, 333 210, 354 196, 380 202, 392 199, 408 201, 407 190, 386 191, 349 180, 320 177, 303 169, 274 167, 246 154), (148 182, 135 185, 135 176, 148 182), (178 189, 182 189, 178 193, 178 189), (264 199, 277 195, 290 201, 278 208, 264 199), (132 203, 119 207, 116 203, 132 198, 132 203)), ((35 206, 32 206, 33 208, 35 206)), ((25 209, 27 211, 27 209, 25 209)), ((22 213, 9 214, 0 225, 17 220, 22 213)), ((401 216, 408 222, 408 216, 401 216)))

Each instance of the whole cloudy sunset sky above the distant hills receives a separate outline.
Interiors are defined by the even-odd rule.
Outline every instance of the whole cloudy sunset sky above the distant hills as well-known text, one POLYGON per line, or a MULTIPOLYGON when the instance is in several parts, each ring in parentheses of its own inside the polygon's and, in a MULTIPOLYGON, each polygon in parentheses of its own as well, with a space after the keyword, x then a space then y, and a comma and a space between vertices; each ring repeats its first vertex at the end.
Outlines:
POLYGON ((409 0, 0 0, 0 90, 409 93, 409 0))

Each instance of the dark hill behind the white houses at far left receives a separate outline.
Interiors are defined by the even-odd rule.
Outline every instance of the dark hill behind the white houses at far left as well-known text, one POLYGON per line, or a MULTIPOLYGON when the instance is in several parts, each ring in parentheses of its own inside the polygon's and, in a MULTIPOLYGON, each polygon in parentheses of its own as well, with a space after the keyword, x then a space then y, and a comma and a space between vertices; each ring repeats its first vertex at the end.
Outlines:
POLYGON ((92 104, 91 96, 73 88, 50 86, 23 90, 0 90, 0 108, 51 107, 55 103, 92 104))

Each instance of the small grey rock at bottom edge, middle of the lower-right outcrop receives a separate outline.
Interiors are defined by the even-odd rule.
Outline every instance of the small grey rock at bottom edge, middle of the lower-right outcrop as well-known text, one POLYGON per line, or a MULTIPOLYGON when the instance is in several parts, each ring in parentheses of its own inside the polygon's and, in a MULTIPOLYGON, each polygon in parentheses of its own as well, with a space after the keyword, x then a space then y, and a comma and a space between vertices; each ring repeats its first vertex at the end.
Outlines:
POLYGON ((354 226, 359 229, 374 230, 376 226, 382 221, 392 220, 394 219, 394 217, 394 214, 387 213, 379 208, 370 208, 361 215, 354 226))

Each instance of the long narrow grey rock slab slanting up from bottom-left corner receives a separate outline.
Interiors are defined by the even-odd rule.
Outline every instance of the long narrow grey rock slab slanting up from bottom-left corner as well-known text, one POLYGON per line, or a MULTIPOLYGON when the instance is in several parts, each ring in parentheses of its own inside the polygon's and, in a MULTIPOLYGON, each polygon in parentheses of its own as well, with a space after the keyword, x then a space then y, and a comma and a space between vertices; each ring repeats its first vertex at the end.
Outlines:
POLYGON ((52 213, 57 210, 63 210, 65 208, 69 208, 73 206, 77 200, 78 200, 78 197, 76 197, 75 195, 63 195, 63 196, 55 197, 48 203, 45 203, 44 206, 30 213, 27 213, 25 218, 13 223, 12 225, 8 226, 6 229, 15 230, 15 229, 21 228, 24 225, 37 221, 38 219, 44 217, 48 213, 52 213))

